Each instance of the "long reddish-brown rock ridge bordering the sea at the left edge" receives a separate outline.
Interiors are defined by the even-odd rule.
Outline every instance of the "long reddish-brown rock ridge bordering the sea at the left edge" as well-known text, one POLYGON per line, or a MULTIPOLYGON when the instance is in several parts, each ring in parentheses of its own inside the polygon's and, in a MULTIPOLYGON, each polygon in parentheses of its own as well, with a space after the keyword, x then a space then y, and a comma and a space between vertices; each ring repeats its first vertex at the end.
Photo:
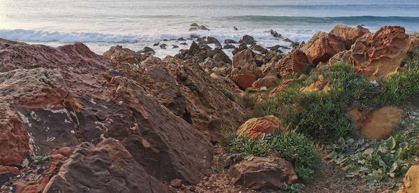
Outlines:
POLYGON ((0 72, 14 69, 66 69, 77 73, 96 73, 112 64, 91 52, 86 45, 75 43, 51 48, 29 45, 0 38, 0 72))

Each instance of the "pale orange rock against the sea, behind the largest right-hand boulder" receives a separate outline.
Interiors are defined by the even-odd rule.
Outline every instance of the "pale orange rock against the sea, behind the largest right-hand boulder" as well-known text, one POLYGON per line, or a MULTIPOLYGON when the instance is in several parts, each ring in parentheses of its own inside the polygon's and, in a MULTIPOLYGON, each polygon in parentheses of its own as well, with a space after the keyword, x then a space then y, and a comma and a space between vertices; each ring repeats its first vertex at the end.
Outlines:
POLYGON ((368 29, 358 25, 357 27, 347 27, 345 25, 338 24, 337 26, 333 27, 333 29, 329 32, 329 34, 333 34, 341 38, 346 45, 346 49, 351 49, 351 45, 355 43, 355 41, 364 36, 364 34, 369 34, 368 29))

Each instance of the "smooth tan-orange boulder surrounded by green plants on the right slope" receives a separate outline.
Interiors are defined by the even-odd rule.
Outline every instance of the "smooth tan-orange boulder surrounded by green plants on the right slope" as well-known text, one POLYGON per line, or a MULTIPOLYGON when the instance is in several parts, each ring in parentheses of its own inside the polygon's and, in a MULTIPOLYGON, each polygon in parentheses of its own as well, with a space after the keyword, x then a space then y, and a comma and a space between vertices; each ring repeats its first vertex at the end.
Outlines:
POLYGON ((385 106, 371 113, 360 112, 355 106, 349 115, 360 132, 372 140, 388 137, 403 117, 402 110, 395 106, 385 106))

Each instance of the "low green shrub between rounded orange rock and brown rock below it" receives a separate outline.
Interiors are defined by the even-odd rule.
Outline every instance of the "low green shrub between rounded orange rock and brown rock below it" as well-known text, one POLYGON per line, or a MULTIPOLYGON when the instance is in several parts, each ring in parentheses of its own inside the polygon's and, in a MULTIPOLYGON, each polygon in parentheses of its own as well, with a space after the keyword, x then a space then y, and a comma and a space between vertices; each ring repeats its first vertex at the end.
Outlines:
POLYGON ((306 183, 312 180, 321 162, 311 141, 295 131, 287 131, 279 136, 267 136, 260 140, 232 136, 226 145, 226 151, 235 155, 233 159, 249 155, 265 157, 279 152, 282 159, 293 164, 297 175, 306 183))

